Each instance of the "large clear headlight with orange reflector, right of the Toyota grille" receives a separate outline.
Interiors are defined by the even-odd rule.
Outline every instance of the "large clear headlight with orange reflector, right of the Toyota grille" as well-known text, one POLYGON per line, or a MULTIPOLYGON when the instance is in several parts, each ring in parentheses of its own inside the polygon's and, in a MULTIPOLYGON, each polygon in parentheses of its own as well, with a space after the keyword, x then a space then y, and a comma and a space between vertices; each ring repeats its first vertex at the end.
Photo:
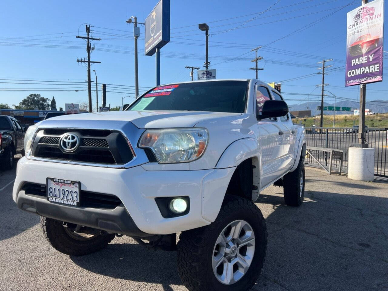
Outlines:
POLYGON ((191 162, 199 159, 208 145, 204 128, 171 128, 146 130, 139 147, 152 150, 159 164, 191 162))

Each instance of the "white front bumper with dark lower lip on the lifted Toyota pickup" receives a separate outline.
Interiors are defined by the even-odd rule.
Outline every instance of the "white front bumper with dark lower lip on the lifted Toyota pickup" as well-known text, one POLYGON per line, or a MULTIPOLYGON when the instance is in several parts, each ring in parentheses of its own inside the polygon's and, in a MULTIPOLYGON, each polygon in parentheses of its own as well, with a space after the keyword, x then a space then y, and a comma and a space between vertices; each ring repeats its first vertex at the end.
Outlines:
POLYGON ((129 236, 171 234, 208 225, 215 220, 235 168, 196 171, 147 171, 19 160, 13 189, 18 207, 39 215, 129 236), (26 182, 46 184, 46 178, 80 181, 82 191, 111 194, 122 204, 113 210, 50 203, 26 195, 26 182), (163 218, 156 197, 188 196, 190 211, 163 218))

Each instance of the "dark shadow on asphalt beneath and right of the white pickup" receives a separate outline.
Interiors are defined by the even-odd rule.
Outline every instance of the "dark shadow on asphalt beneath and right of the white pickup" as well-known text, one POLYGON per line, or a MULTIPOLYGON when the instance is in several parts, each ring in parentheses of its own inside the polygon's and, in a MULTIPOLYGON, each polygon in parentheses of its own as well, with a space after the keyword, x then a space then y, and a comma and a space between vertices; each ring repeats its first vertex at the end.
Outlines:
MULTIPOLYGON (((282 192, 282 189, 279 189, 282 192)), ((268 251, 253 290, 378 290, 388 288, 388 199, 307 191, 299 208, 282 196, 262 194, 268 251)), ((91 272, 137 282, 181 285, 175 253, 138 244, 109 244, 98 253, 71 257, 91 272)))

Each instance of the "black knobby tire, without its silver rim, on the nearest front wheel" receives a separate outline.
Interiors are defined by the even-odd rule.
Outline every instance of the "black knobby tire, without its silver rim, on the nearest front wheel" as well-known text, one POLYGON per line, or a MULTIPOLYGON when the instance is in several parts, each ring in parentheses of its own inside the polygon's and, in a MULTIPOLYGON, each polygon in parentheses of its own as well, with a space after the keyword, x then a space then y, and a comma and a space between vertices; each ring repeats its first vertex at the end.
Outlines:
POLYGON ((182 232, 178 242, 178 273, 190 291, 245 291, 258 279, 267 251, 267 228, 264 217, 250 200, 227 195, 216 220, 210 225, 182 232), (255 234, 253 261, 246 274, 230 285, 216 278, 213 268, 215 242, 230 222, 245 220, 255 234))

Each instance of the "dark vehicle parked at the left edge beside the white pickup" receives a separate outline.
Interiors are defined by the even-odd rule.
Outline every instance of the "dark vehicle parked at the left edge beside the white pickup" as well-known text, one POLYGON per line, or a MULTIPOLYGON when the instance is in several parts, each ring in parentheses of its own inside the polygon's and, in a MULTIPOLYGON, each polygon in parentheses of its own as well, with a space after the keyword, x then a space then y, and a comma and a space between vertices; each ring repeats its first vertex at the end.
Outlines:
POLYGON ((2 155, 0 165, 5 170, 14 167, 14 155, 24 156, 24 130, 12 116, 0 115, 0 133, 2 135, 2 155))

